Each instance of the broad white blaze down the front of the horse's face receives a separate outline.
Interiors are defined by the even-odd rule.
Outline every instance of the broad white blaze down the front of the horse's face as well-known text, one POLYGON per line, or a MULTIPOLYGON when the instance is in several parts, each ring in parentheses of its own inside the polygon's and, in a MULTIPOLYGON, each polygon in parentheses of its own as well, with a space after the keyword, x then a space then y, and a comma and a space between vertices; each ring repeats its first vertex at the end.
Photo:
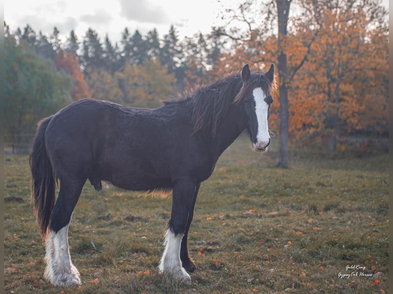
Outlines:
POLYGON ((257 142, 253 143, 254 147, 265 148, 270 141, 268 126, 267 126, 267 110, 269 104, 266 103, 266 95, 262 88, 255 88, 252 91, 255 100, 255 112, 258 121, 257 142))

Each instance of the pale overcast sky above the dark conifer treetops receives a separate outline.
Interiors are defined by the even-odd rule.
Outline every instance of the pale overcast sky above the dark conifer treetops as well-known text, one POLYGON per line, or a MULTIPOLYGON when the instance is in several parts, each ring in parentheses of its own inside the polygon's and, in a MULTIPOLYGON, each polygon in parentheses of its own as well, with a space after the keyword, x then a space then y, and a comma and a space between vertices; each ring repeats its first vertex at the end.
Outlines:
POLYGON ((104 40, 108 34, 114 43, 127 27, 131 34, 142 35, 156 28, 162 37, 171 25, 180 39, 199 31, 209 33, 212 26, 223 24, 219 12, 236 8, 239 0, 6 0, 4 20, 11 32, 29 24, 38 34, 49 35, 56 27, 64 36, 74 30, 79 39, 91 27, 104 40), (224 7, 224 4, 225 7, 224 7))

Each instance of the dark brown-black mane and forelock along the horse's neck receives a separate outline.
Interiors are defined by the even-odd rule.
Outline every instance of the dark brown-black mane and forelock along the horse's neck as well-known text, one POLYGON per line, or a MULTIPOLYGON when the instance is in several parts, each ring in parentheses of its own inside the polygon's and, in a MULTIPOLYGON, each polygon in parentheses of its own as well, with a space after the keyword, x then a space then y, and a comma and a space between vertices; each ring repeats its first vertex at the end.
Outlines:
POLYGON ((208 86, 199 86, 195 90, 184 92, 178 97, 164 101, 164 104, 188 102, 192 110, 194 133, 217 132, 221 118, 226 114, 232 103, 238 103, 252 88, 262 87, 265 93, 271 91, 273 85, 263 74, 251 74, 244 85, 240 74, 228 75, 208 86), (243 87, 242 87, 243 86, 243 87))

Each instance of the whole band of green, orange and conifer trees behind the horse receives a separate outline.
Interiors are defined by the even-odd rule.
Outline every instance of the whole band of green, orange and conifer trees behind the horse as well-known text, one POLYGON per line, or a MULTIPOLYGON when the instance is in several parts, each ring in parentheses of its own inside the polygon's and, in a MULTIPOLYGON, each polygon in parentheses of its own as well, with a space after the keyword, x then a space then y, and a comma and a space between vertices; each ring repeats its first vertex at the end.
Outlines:
MULTIPOLYGON (((162 38, 125 28, 119 43, 89 28, 35 32, 26 25, 5 33, 5 127, 16 145, 36 122, 83 98, 154 108, 162 100, 205 85, 244 64, 265 71, 285 51, 289 138, 308 142, 334 136, 388 135, 388 24, 380 0, 306 0, 297 3, 278 45, 275 3, 251 0, 223 12, 248 30, 212 28, 179 39, 175 27, 162 38), (268 5, 267 5, 268 4, 268 5), (265 9, 265 10, 264 10, 265 9), (257 16, 256 16, 257 15, 257 16), (266 17, 265 17, 266 16, 266 17), (279 49, 280 48, 280 49, 279 49)), ((282 83, 280 73, 276 79, 282 83)), ((269 128, 278 133, 280 99, 274 93, 269 128)), ((279 134, 278 134, 279 135, 279 134)), ((332 145, 333 149, 335 145, 332 145)))

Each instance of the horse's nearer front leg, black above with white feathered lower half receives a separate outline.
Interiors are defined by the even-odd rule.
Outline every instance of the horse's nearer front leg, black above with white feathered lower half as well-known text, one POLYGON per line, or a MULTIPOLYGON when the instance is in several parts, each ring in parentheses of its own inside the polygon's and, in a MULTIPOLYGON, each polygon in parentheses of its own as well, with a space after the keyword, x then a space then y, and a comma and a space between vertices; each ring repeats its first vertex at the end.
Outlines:
POLYGON ((165 250, 159 266, 161 272, 168 272, 187 284, 191 283, 191 278, 182 266, 180 248, 196 188, 197 183, 191 178, 181 178, 174 182, 171 218, 168 222, 165 250))

